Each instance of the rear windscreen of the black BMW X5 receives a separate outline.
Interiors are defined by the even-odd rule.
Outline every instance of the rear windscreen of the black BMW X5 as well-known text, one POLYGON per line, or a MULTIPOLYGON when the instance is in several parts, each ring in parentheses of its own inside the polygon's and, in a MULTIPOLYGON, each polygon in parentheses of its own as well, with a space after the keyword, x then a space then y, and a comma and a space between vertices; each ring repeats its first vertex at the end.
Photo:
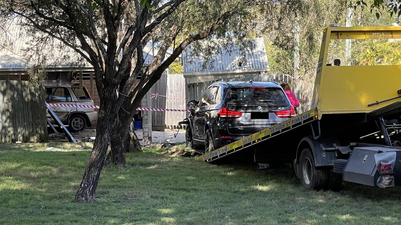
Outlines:
POLYGON ((229 98, 234 104, 288 104, 286 94, 280 88, 232 88, 229 98))

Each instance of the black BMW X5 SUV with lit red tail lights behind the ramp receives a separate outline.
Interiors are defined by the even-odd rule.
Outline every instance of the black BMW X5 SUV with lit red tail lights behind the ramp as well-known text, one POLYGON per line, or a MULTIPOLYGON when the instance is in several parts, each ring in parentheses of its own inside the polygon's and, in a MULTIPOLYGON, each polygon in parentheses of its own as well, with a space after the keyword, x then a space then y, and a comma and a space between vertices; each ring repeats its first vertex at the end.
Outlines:
POLYGON ((190 100, 186 145, 213 151, 295 116, 295 109, 279 84, 214 82, 200 101, 190 100))

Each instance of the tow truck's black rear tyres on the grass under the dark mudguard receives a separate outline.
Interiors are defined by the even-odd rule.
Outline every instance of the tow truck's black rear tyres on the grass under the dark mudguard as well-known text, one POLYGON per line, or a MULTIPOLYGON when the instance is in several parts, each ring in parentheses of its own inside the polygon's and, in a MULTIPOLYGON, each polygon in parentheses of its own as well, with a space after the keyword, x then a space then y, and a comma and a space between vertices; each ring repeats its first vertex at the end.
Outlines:
POLYGON ((338 190, 342 184, 342 177, 332 170, 316 169, 310 148, 302 150, 298 173, 302 185, 314 190, 338 190))

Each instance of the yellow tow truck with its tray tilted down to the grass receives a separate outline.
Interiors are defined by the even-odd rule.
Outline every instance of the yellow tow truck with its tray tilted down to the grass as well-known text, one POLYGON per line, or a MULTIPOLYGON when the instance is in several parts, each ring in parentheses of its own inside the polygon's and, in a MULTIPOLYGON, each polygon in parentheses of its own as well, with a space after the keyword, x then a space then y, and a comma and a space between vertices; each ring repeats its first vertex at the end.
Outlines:
POLYGON ((198 159, 292 162, 309 189, 401 186, 401 65, 328 62, 330 41, 397 38, 401 27, 324 29, 312 109, 198 159))

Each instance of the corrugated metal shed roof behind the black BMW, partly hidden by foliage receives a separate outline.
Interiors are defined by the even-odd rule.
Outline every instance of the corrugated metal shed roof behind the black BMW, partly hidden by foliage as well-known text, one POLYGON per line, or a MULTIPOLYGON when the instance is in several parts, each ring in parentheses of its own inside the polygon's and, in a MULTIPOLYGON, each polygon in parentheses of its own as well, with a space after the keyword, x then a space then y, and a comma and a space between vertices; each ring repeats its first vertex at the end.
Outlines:
POLYGON ((192 58, 188 48, 182 52, 182 62, 184 75, 204 74, 221 74, 230 73, 233 70, 268 70, 269 63, 267 62, 266 48, 263 38, 255 38, 255 48, 246 54, 246 64, 238 65, 240 57, 239 49, 233 49, 233 53, 222 49, 222 54, 214 56, 212 68, 203 68, 204 60, 202 58, 192 58))

